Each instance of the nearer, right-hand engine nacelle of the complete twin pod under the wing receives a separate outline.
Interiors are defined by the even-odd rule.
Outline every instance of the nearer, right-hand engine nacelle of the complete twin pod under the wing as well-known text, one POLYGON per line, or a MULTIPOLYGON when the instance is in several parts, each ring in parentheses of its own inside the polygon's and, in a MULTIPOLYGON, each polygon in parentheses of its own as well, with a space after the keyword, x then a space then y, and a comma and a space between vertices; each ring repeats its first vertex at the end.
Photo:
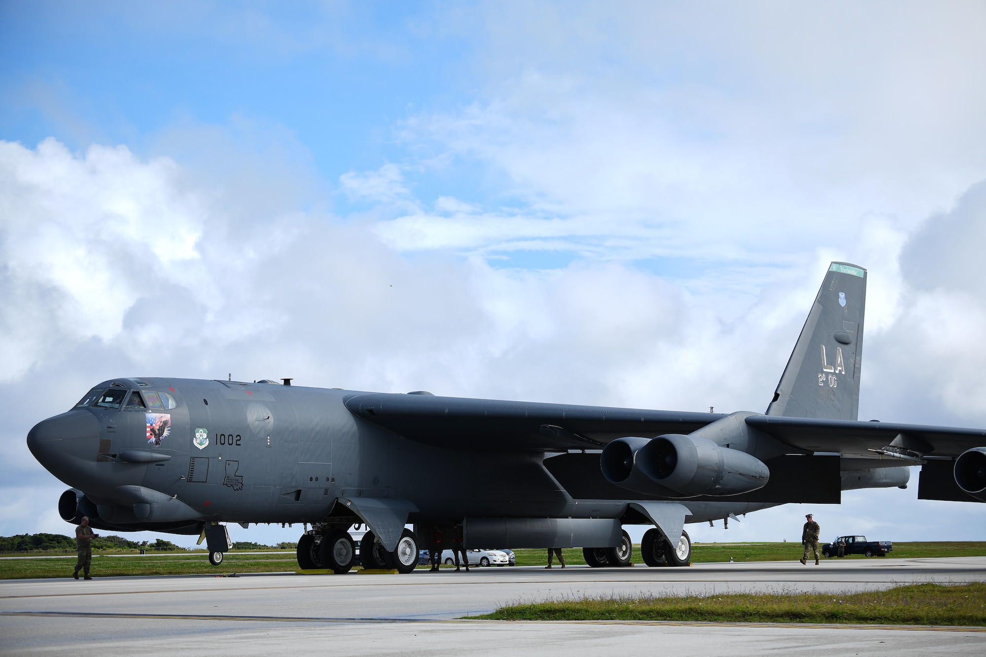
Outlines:
POLYGON ((767 485, 770 471, 759 459, 707 438, 667 434, 634 455, 648 477, 684 495, 737 495, 767 485))

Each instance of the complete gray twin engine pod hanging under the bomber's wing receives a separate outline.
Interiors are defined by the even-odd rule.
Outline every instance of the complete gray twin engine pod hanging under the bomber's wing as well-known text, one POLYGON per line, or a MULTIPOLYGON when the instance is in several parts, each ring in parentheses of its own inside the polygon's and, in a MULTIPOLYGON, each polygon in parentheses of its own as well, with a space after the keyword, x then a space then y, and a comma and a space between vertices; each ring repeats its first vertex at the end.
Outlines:
POLYGON ((618 486, 671 497, 738 495, 762 488, 770 479, 759 459, 708 438, 681 434, 618 438, 602 450, 599 467, 618 486))

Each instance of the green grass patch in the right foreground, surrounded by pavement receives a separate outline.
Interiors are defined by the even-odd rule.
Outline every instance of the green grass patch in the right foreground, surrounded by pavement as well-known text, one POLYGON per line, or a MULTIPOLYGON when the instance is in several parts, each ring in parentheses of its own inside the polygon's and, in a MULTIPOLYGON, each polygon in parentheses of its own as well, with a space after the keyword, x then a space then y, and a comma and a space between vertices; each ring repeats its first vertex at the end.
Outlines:
POLYGON ((699 620, 986 625, 986 583, 897 586, 853 594, 582 598, 503 607, 490 620, 699 620))

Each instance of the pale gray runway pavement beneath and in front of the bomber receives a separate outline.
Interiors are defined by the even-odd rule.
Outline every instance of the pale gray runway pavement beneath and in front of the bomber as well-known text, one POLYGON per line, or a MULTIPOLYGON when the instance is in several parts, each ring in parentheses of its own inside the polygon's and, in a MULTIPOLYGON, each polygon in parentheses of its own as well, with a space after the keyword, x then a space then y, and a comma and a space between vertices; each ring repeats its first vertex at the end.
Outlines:
MULTIPOLYGON (((98 570, 94 570, 98 575, 98 570)), ((410 575, 257 574, 0 582, 0 652, 45 654, 986 654, 984 628, 456 620, 583 595, 851 592, 986 580, 986 557, 483 568, 410 575)))

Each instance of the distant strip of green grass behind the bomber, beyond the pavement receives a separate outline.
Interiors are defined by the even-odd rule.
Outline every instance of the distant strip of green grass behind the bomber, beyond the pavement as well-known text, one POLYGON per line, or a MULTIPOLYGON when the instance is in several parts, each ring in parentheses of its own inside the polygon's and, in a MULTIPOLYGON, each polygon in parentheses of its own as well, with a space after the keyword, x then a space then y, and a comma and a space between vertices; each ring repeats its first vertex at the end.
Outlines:
MULTIPOLYGON (((639 546, 634 546, 634 561, 640 562, 639 546)), ((795 543, 739 543, 695 544, 692 547, 694 563, 715 561, 794 561, 801 558, 802 547, 795 543)), ((247 550, 250 551, 250 550, 247 550)), ((47 555, 58 552, 49 551, 47 555)), ((581 549, 563 550, 566 563, 584 565, 581 549)), ((35 577, 66 577, 72 574, 75 554, 63 552, 60 558, 0 559, 0 579, 24 579, 35 577)), ((545 565, 547 550, 516 550, 517 565, 545 565)), ((893 558, 926 556, 984 556, 986 543, 896 543, 888 555, 893 558)), ((15 556, 15 554, 10 554, 15 556)), ((34 554, 25 554, 34 556, 34 554)), ((850 556, 846 558, 865 558, 850 556)), ((872 557, 879 559, 880 557, 872 557)), ((113 577, 120 575, 190 575, 221 574, 232 572, 292 572, 298 568, 293 553, 263 552, 246 554, 238 550, 226 553, 220 566, 209 565, 205 551, 160 552, 138 555, 137 550, 106 550, 93 554, 93 575, 113 577), (110 556, 109 554, 120 554, 110 556)))

